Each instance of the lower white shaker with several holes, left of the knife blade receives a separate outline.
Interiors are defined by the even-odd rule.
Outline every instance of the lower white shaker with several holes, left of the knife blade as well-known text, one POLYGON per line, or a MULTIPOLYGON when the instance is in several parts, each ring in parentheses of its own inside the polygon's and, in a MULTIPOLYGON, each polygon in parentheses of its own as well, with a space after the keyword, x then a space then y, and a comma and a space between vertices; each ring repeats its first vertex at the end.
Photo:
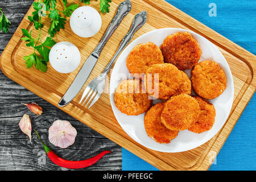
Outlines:
POLYGON ((60 73, 70 73, 80 64, 79 49, 70 42, 59 42, 49 52, 49 62, 52 68, 60 73))

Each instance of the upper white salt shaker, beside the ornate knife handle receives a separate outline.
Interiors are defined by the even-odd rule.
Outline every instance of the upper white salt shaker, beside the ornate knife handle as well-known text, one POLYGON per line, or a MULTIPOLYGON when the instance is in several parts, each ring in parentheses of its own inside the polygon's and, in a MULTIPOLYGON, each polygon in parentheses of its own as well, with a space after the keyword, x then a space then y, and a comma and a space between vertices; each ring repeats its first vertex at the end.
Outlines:
POLYGON ((81 6, 76 9, 70 18, 72 31, 82 38, 89 38, 101 28, 101 16, 96 9, 90 6, 81 6))

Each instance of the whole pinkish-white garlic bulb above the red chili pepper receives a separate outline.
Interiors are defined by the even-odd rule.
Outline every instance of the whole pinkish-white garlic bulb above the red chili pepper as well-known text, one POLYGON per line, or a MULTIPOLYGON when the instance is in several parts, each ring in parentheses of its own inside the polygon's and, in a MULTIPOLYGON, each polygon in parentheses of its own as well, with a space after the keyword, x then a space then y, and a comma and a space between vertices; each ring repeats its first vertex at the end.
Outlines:
POLYGON ((56 120, 49 127, 49 142, 60 148, 67 148, 75 143, 77 131, 70 122, 56 120))

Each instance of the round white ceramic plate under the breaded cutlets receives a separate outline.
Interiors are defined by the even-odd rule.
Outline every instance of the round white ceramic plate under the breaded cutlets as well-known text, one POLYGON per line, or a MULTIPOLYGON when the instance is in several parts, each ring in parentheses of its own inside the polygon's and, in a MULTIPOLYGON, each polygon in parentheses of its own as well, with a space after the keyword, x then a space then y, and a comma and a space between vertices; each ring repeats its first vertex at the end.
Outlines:
MULTIPOLYGON (((191 69, 185 71, 188 77, 191 77, 191 69)), ((140 36, 135 39, 132 43, 127 46, 121 55, 119 56, 117 62, 114 65, 112 75, 110 78, 109 85, 110 92, 110 102, 112 105, 112 109, 117 118, 119 125, 123 130, 136 142, 142 144, 145 147, 151 148, 152 150, 162 151, 162 152, 183 152, 187 150, 191 150, 193 148, 201 146, 209 139, 211 139, 224 125, 226 119, 229 116, 230 109, 233 103, 234 96, 234 84, 232 73, 230 71, 229 65, 226 62, 224 56, 217 49, 214 44, 209 42, 209 40, 205 39, 203 36, 196 34, 195 32, 189 30, 183 30, 180 28, 162 28, 158 30, 154 30, 151 32, 147 32, 146 34, 140 36), (153 42, 157 46, 160 46, 163 43, 163 40, 171 34, 175 32, 184 32, 188 31, 191 33, 193 38, 199 42, 202 55, 200 61, 203 60, 214 60, 218 64, 220 64, 221 68, 224 69, 226 77, 227 77, 227 88, 225 91, 214 100, 209 100, 216 109, 216 117, 215 122, 211 130, 205 131, 201 134, 192 133, 191 131, 184 130, 180 131, 177 137, 168 144, 160 144, 156 143, 155 140, 151 139, 147 136, 146 130, 144 129, 144 114, 137 116, 129 116, 121 113, 117 109, 114 103, 114 92, 115 88, 117 88, 120 81, 125 80, 127 78, 132 78, 129 76, 129 71, 126 67, 126 58, 129 55, 131 49, 134 46, 140 43, 153 42)), ((157 101, 153 101, 154 102, 157 101)))

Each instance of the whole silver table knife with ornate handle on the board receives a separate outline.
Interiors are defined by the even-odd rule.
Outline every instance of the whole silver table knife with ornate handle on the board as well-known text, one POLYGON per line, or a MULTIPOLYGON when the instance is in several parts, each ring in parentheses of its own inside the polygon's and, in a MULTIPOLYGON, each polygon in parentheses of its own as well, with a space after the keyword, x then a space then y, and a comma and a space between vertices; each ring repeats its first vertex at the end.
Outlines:
POLYGON ((100 53, 104 48, 106 42, 108 42, 110 36, 117 29, 122 19, 130 12, 130 10, 131 10, 130 0, 126 0, 120 3, 117 9, 117 14, 115 14, 112 22, 110 22, 109 27, 106 30, 104 36, 102 37, 100 43, 98 43, 98 46, 94 49, 92 54, 85 61, 84 65, 82 65, 82 68, 80 69, 79 73, 77 73, 75 80, 72 82, 67 92, 61 98, 58 104, 60 107, 63 107, 69 104, 69 102, 71 102, 73 98, 75 98, 76 95, 79 93, 82 86, 85 84, 86 80, 90 76, 90 73, 94 68, 94 65, 97 63, 98 57, 100 56, 100 53))

